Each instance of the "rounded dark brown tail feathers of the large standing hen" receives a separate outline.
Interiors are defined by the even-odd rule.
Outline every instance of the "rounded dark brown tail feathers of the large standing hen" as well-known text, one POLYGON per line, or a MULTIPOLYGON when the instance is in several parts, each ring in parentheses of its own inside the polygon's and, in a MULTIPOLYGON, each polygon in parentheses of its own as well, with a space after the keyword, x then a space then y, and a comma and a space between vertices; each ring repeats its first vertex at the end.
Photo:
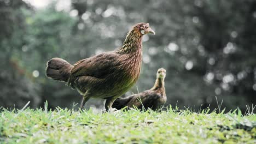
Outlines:
POLYGON ((58 81, 67 82, 74 66, 61 58, 52 58, 47 62, 46 76, 58 81))

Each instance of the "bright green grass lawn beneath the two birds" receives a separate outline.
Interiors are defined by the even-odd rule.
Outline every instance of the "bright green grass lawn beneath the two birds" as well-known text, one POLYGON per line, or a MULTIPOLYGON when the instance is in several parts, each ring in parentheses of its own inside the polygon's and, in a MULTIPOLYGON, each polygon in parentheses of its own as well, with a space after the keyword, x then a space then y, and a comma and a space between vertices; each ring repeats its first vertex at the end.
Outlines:
POLYGON ((190 110, 0 112, 0 143, 256 143, 256 116, 190 110))

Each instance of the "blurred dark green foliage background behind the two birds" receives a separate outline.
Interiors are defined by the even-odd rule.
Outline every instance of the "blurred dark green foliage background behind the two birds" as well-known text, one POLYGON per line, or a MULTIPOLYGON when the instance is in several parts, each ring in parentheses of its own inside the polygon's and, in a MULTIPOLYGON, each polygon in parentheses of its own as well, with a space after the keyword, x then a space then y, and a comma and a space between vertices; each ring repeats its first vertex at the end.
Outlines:
POLYGON ((47 79, 46 62, 114 50, 137 22, 149 22, 156 35, 144 36, 141 76, 127 95, 152 87, 163 67, 166 105, 216 108, 216 96, 227 109, 256 104, 255 1, 73 0, 69 9, 58 3, 34 9, 0 1, 0 105, 32 100, 38 107, 48 100, 51 107, 72 107, 80 95, 47 79))

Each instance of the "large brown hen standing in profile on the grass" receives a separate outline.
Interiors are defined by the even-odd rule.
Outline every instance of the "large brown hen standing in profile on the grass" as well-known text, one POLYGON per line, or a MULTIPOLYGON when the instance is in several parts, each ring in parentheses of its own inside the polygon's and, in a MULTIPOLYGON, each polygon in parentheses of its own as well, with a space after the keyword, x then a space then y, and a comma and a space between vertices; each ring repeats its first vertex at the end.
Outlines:
POLYGON ((112 109, 115 99, 128 91, 138 80, 142 61, 142 37, 155 32, 148 23, 137 23, 127 33, 123 46, 82 59, 71 65, 61 58, 47 63, 46 76, 67 82, 83 95, 80 108, 90 98, 106 99, 106 110, 112 109))

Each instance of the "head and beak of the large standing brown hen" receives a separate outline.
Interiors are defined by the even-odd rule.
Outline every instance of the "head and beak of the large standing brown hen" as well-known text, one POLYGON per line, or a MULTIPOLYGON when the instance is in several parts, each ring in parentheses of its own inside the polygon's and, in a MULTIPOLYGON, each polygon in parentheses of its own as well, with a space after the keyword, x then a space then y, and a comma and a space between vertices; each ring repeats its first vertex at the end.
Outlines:
POLYGON ((148 33, 155 34, 153 29, 149 27, 149 23, 144 23, 144 22, 137 23, 132 27, 132 29, 134 29, 136 32, 138 32, 141 35, 148 34, 148 33))

